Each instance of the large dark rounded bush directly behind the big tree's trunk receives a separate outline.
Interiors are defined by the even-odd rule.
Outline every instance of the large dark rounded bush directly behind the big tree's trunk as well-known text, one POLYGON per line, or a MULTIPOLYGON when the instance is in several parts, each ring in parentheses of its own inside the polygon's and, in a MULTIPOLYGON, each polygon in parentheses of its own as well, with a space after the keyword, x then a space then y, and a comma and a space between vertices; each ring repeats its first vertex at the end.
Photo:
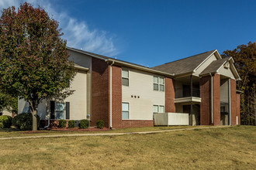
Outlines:
MULTIPOLYGON (((40 127, 40 117, 36 115, 37 128, 40 127)), ((17 114, 12 119, 12 125, 22 131, 31 131, 33 126, 33 117, 31 113, 17 114)))

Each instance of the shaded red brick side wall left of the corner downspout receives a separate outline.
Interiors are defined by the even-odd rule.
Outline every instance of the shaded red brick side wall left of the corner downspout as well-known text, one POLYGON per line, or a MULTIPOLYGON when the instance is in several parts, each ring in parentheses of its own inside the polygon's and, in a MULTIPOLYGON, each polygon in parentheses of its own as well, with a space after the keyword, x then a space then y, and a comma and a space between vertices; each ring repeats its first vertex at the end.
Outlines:
POLYGON ((102 120, 109 128, 109 65, 92 57, 92 115, 91 126, 102 120))

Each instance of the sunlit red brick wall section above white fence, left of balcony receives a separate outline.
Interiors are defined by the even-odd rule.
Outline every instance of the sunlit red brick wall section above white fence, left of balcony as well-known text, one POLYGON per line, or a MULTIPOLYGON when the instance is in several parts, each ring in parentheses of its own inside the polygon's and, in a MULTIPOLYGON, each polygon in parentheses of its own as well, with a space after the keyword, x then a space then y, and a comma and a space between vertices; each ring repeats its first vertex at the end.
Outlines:
POLYGON ((165 112, 175 112, 175 86, 171 78, 165 78, 165 112))

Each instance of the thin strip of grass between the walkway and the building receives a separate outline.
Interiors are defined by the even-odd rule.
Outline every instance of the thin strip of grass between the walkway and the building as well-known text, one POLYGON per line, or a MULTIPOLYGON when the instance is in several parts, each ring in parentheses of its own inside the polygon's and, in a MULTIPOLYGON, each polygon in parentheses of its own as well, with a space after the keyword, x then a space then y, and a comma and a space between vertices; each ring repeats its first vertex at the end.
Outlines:
MULTIPOLYGON (((209 127, 209 126, 200 126, 209 127)), ((162 131, 171 129, 195 128, 192 126, 170 126, 170 127, 145 127, 145 128, 123 128, 109 131, 38 131, 38 133, 26 133, 27 131, 17 131, 15 129, 0 129, 0 138, 18 137, 18 136, 34 136, 34 135, 50 135, 50 134, 93 134, 93 133, 130 133, 137 131, 162 131)))

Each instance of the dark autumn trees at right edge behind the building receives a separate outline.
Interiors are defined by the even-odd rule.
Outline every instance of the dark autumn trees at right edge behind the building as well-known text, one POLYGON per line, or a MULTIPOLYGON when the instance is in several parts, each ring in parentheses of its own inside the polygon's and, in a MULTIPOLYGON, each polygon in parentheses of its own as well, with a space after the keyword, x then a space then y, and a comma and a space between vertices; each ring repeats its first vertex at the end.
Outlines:
POLYGON ((243 91, 240 95, 241 121, 243 124, 256 125, 256 42, 237 46, 234 50, 226 50, 222 56, 233 57, 241 78, 237 81, 238 90, 243 91))

